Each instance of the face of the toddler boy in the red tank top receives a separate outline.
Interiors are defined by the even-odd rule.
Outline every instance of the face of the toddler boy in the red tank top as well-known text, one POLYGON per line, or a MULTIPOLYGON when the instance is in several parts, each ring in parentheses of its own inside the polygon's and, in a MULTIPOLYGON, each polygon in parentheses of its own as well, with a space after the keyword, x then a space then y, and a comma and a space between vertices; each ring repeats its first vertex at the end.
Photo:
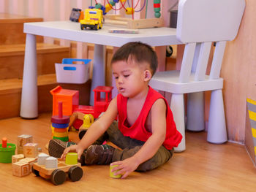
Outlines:
POLYGON ((143 91, 143 88, 147 88, 145 72, 148 70, 143 69, 143 66, 135 62, 127 64, 127 61, 116 61, 112 64, 112 70, 118 93, 123 96, 132 98, 143 91))

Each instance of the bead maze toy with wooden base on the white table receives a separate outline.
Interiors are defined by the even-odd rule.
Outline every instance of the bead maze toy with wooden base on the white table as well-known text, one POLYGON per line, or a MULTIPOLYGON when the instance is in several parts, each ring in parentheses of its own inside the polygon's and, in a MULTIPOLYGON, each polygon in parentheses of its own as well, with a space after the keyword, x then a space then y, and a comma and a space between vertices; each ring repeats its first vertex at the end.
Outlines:
POLYGON ((146 19, 139 19, 135 20, 134 19, 134 13, 135 12, 140 12, 144 9, 146 6, 146 12, 147 12, 147 7, 148 7, 148 0, 144 0, 143 7, 138 9, 138 4, 140 0, 137 0, 136 4, 134 3, 134 0, 131 0, 131 4, 129 3, 129 0, 111 0, 108 1, 108 4, 106 4, 106 1, 104 4, 99 4, 95 0, 96 4, 95 6, 91 6, 89 8, 95 8, 95 9, 102 9, 103 15, 105 15, 105 23, 110 23, 114 25, 122 25, 122 26, 127 26, 129 29, 136 29, 136 28, 153 28, 153 27, 160 27, 163 26, 163 20, 161 17, 161 0, 154 0, 154 16, 155 18, 145 18, 146 19), (120 3, 121 6, 120 8, 116 8, 116 4, 120 3), (128 3, 128 7, 125 7, 125 4, 128 3), (124 9, 125 13, 127 15, 132 15, 132 19, 130 18, 122 18, 118 15, 106 15, 107 12, 109 12, 111 9, 117 11, 124 9))

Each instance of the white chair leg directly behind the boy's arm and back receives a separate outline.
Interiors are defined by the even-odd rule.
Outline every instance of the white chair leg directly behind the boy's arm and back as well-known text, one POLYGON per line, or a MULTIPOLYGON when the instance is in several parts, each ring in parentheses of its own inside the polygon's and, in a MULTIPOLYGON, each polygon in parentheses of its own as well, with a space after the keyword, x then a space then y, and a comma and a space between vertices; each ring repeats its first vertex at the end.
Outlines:
POLYGON ((186 149, 185 122, 184 122, 184 95, 183 94, 173 93, 172 99, 170 101, 170 109, 173 112, 173 118, 176 123, 176 127, 183 137, 178 147, 175 147, 176 152, 181 152, 186 149))

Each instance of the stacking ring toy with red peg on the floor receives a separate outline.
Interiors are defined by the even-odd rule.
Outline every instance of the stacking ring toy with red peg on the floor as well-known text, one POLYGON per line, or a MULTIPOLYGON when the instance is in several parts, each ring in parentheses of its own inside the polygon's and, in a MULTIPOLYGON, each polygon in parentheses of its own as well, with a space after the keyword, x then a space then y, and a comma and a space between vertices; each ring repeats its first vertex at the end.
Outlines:
POLYGON ((58 104, 58 115, 53 115, 51 118, 53 139, 60 139, 61 141, 68 142, 69 116, 63 115, 62 102, 59 101, 58 104))

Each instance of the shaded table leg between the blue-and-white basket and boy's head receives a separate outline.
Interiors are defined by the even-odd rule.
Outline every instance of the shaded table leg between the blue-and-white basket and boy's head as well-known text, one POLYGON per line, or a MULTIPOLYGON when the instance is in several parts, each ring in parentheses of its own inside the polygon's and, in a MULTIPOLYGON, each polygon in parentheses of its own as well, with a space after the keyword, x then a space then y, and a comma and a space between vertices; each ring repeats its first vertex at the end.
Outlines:
POLYGON ((94 68, 91 80, 90 105, 94 105, 94 88, 105 86, 105 45, 94 45, 94 68))

